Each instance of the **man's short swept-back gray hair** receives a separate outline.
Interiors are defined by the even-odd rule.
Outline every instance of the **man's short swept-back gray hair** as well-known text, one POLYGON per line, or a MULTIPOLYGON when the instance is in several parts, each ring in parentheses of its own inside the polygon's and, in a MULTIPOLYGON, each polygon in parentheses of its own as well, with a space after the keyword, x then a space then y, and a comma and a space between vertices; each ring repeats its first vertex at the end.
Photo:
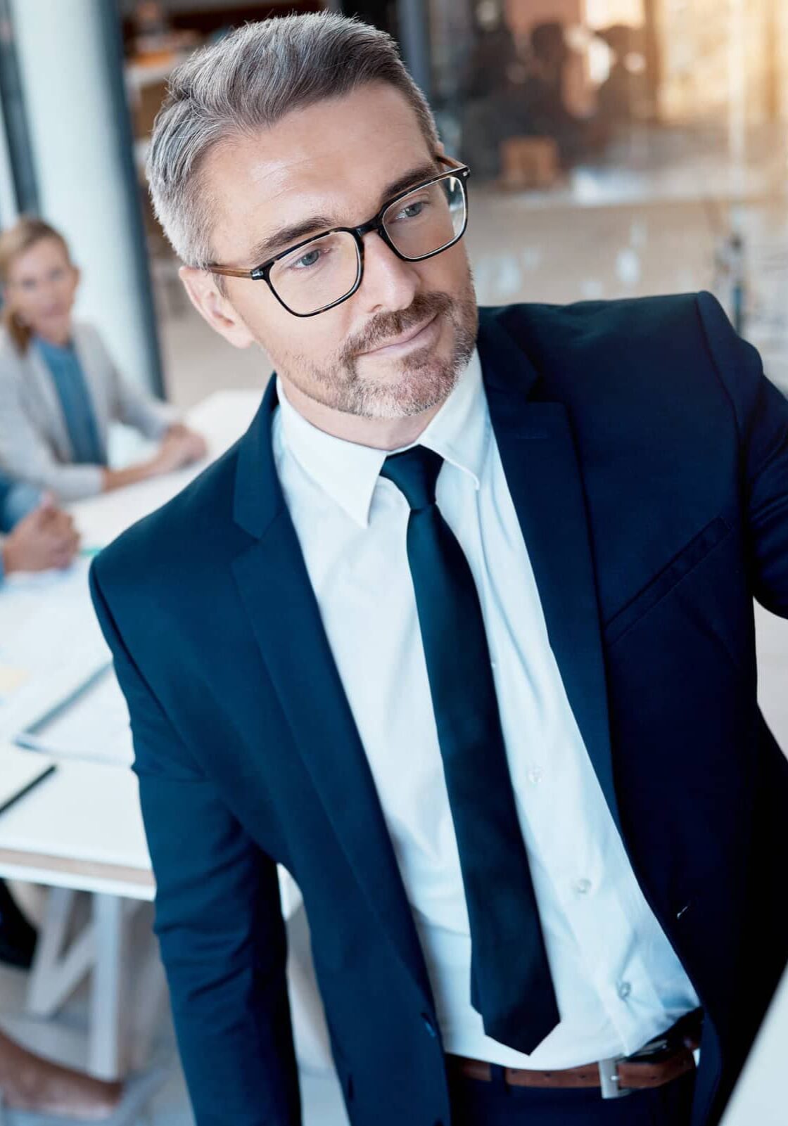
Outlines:
POLYGON ((213 202, 200 170, 215 145, 367 82, 386 82, 405 96, 435 151, 432 111, 396 44, 357 19, 322 12, 247 24, 182 63, 155 119, 147 158, 153 207, 179 258, 200 268, 213 260, 213 202))

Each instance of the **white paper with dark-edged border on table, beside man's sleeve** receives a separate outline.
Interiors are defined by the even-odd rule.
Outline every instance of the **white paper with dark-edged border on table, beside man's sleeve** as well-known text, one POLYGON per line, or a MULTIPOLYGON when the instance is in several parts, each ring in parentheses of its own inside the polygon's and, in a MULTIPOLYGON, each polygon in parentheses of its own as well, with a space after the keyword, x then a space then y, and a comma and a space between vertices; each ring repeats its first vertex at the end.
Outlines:
POLYGON ((128 766, 134 759, 128 708, 113 670, 106 669, 65 707, 21 732, 16 742, 57 759, 128 766))

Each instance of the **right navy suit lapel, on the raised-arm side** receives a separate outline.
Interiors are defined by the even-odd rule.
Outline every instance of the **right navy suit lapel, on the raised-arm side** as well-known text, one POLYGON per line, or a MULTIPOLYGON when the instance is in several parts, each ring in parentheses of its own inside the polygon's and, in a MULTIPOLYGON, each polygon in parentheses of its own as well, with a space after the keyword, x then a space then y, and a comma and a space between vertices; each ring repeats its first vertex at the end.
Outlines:
POLYGON ((588 513, 570 420, 562 403, 528 399, 537 373, 489 315, 482 318, 478 348, 490 417, 550 647, 620 831, 588 513))

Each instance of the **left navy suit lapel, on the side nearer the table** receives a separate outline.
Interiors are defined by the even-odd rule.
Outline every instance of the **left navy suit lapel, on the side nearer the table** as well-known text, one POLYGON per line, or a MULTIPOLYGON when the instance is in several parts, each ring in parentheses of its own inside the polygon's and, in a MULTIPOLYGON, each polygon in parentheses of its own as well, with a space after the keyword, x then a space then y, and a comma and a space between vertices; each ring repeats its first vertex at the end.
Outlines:
POLYGON ((337 838, 369 905, 429 997, 421 947, 367 757, 279 486, 270 440, 275 406, 271 379, 239 452, 235 519, 254 543, 233 561, 235 582, 337 838))

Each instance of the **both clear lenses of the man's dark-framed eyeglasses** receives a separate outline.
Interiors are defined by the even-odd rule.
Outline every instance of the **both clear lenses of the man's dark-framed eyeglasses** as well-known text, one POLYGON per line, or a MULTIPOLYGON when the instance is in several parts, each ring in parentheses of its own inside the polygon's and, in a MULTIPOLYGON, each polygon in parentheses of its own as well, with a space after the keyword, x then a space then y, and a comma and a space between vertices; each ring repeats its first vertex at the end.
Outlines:
MULTIPOLYGON (((456 242, 465 226, 465 194, 454 176, 417 188, 386 209, 383 226, 403 258, 433 254, 456 242)), ((361 268, 358 244, 347 231, 334 231, 280 258, 270 284, 294 313, 306 315, 341 301, 361 268)))

